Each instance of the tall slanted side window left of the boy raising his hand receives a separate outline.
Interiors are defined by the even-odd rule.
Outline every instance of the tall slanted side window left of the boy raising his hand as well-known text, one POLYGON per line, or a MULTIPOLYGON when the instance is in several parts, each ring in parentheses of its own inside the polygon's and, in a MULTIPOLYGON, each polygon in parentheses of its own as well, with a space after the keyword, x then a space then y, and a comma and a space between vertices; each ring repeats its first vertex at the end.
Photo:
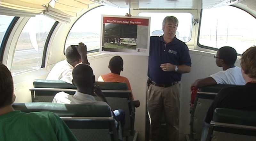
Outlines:
POLYGON ((41 67, 44 44, 54 23, 55 20, 44 15, 28 20, 16 45, 11 68, 13 75, 41 67))

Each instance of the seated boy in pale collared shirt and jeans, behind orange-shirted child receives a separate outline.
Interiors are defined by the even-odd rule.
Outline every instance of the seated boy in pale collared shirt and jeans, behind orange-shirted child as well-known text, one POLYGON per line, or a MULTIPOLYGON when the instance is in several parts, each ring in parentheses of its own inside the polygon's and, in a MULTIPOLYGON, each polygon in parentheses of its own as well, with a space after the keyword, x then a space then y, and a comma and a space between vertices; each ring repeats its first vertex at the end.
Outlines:
MULTIPOLYGON (((72 72, 72 83, 76 86, 77 91, 74 95, 65 92, 57 93, 52 102, 66 103, 66 104, 94 104, 94 105, 108 105, 105 95, 102 93, 100 86, 95 86, 95 76, 92 68, 87 64, 78 64, 72 72), (96 101, 92 96, 95 93, 102 101, 96 101)), ((120 121, 122 128, 125 124, 125 112, 121 109, 113 111, 118 121, 120 121)))

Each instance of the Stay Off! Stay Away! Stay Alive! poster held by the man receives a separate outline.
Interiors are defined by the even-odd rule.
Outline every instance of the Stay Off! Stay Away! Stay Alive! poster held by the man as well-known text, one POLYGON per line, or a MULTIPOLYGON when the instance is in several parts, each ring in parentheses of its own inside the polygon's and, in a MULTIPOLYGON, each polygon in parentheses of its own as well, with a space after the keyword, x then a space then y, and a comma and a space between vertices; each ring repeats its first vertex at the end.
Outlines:
POLYGON ((150 17, 102 15, 100 53, 149 55, 150 17))

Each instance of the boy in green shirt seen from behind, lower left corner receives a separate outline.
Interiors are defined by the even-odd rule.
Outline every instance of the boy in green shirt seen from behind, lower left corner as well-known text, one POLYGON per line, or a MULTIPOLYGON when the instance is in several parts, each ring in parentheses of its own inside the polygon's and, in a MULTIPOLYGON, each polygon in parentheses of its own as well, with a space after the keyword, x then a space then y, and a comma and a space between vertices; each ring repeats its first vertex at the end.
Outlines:
POLYGON ((78 141, 65 122, 52 112, 15 111, 15 98, 12 74, 0 63, 1 141, 78 141))

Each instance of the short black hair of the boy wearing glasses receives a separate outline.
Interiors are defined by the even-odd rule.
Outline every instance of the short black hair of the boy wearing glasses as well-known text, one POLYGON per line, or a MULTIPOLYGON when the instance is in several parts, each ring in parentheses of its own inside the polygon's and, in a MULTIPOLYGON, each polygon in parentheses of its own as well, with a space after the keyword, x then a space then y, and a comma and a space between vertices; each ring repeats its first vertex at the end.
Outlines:
POLYGON ((220 59, 223 59, 227 65, 234 65, 236 63, 237 53, 235 48, 225 46, 221 47, 218 51, 220 59))

